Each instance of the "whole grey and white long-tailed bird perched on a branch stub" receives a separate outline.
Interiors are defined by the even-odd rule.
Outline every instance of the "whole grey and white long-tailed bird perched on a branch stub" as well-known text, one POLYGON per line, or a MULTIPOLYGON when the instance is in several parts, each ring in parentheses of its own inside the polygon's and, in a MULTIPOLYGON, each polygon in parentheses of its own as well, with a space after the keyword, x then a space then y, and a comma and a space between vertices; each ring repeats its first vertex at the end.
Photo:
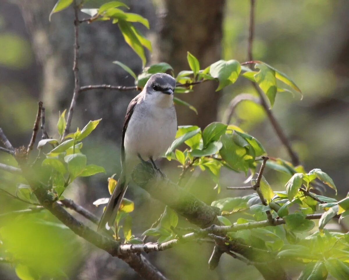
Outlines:
POLYGON ((128 105, 121 140, 122 171, 98 225, 98 230, 114 225, 131 173, 140 161, 162 156, 173 142, 177 116, 173 106, 176 80, 168 74, 152 75, 142 92, 128 105))

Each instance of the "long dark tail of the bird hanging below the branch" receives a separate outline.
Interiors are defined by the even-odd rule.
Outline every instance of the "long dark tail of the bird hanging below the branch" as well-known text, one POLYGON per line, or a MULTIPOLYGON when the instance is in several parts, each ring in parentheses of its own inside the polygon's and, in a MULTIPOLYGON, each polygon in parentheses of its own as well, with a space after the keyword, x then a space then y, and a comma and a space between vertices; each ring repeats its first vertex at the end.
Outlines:
POLYGON ((119 180, 114 188, 114 191, 109 199, 107 207, 99 221, 97 230, 100 231, 108 223, 109 226, 114 225, 116 215, 118 213, 122 198, 125 195, 128 183, 124 172, 121 172, 119 180))

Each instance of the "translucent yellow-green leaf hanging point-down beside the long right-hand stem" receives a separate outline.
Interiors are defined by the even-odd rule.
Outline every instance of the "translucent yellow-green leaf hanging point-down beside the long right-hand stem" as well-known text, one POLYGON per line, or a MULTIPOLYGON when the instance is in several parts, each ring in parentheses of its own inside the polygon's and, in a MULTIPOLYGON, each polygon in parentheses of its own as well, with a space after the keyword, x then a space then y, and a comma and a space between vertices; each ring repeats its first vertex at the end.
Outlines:
POLYGON ((262 91, 267 95, 270 102, 270 108, 272 108, 277 92, 275 71, 265 64, 260 63, 257 63, 255 68, 259 68, 260 71, 254 75, 254 78, 262 91))

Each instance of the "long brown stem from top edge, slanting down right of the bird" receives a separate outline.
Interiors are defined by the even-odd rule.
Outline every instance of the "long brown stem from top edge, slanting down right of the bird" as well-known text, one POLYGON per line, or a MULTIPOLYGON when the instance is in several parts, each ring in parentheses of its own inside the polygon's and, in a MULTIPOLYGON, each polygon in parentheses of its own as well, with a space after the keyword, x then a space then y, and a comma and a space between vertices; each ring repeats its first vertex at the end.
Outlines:
MULTIPOLYGON (((250 32, 248 37, 248 62, 242 63, 242 65, 245 64, 252 64, 255 63, 252 58, 252 43, 253 43, 253 35, 254 35, 254 0, 251 0, 251 11, 250 11, 250 32)), ((267 116, 269 118, 270 123, 272 124, 277 136, 279 137, 282 144, 285 146, 285 148, 288 151, 288 154, 291 157, 291 162, 294 166, 299 165, 299 158, 296 152, 292 149, 291 144, 289 140, 287 139, 285 133, 283 132, 281 126, 275 119, 272 111, 269 109, 269 106, 265 100, 264 93, 260 89, 260 87, 257 85, 257 83, 252 82, 255 90, 259 94, 260 97, 260 103, 262 107, 264 108, 265 112, 267 113, 267 116)))

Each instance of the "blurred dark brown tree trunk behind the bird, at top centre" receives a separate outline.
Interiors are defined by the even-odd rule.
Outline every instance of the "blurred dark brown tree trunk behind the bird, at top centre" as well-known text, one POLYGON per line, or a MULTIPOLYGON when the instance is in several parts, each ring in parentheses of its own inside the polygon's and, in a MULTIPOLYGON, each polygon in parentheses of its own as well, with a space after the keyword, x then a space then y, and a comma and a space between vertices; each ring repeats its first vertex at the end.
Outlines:
MULTIPOLYGON (((188 70, 187 51, 191 52, 204 69, 221 59, 222 20, 224 0, 164 0, 165 16, 159 26, 157 52, 154 59, 172 65, 177 73, 188 70)), ((195 86, 193 93, 180 96, 198 110, 198 115, 188 108, 177 107, 178 124, 196 124, 205 127, 216 120, 217 103, 214 82, 195 86)))

